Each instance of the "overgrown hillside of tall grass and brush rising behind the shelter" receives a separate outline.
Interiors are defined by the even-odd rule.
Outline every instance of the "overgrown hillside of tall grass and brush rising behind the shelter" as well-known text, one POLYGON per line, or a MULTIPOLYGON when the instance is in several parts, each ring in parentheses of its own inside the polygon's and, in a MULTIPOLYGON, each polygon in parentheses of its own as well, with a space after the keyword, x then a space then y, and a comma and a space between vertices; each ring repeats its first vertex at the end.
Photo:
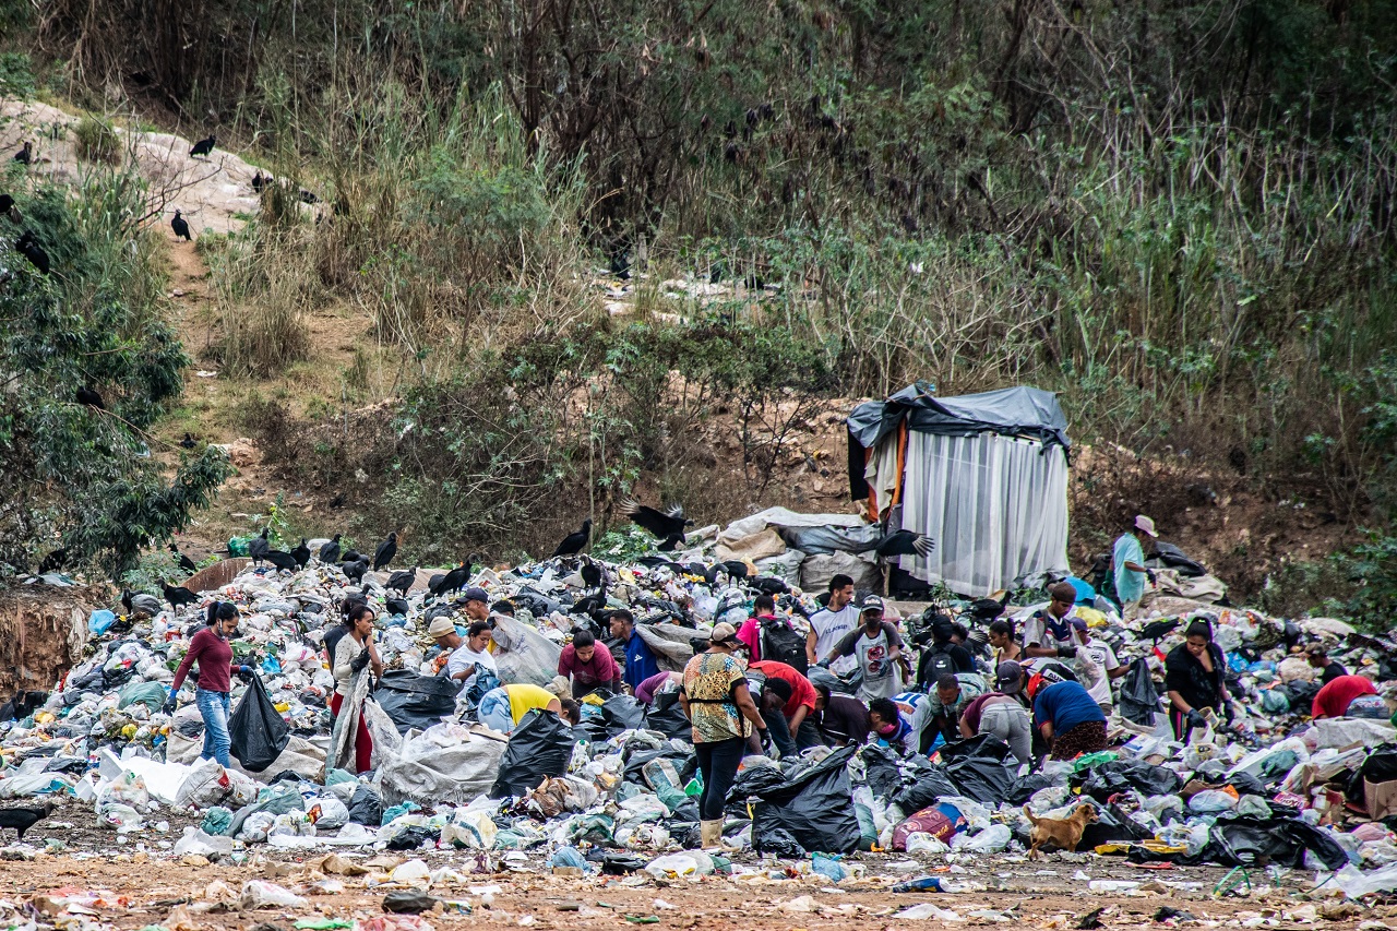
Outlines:
POLYGON ((265 375, 314 308, 372 320, 391 377, 356 359, 324 396, 388 405, 249 422, 377 526, 536 552, 578 491, 692 491, 685 431, 719 407, 756 500, 803 398, 925 379, 1062 391, 1081 439, 1384 540, 1394 0, 133 10, 0 0, 0 25, 41 89, 217 131, 285 183, 201 243, 214 352, 265 375), (648 273, 634 315, 597 309, 606 266, 648 273), (676 274, 736 287, 675 306, 676 274))

